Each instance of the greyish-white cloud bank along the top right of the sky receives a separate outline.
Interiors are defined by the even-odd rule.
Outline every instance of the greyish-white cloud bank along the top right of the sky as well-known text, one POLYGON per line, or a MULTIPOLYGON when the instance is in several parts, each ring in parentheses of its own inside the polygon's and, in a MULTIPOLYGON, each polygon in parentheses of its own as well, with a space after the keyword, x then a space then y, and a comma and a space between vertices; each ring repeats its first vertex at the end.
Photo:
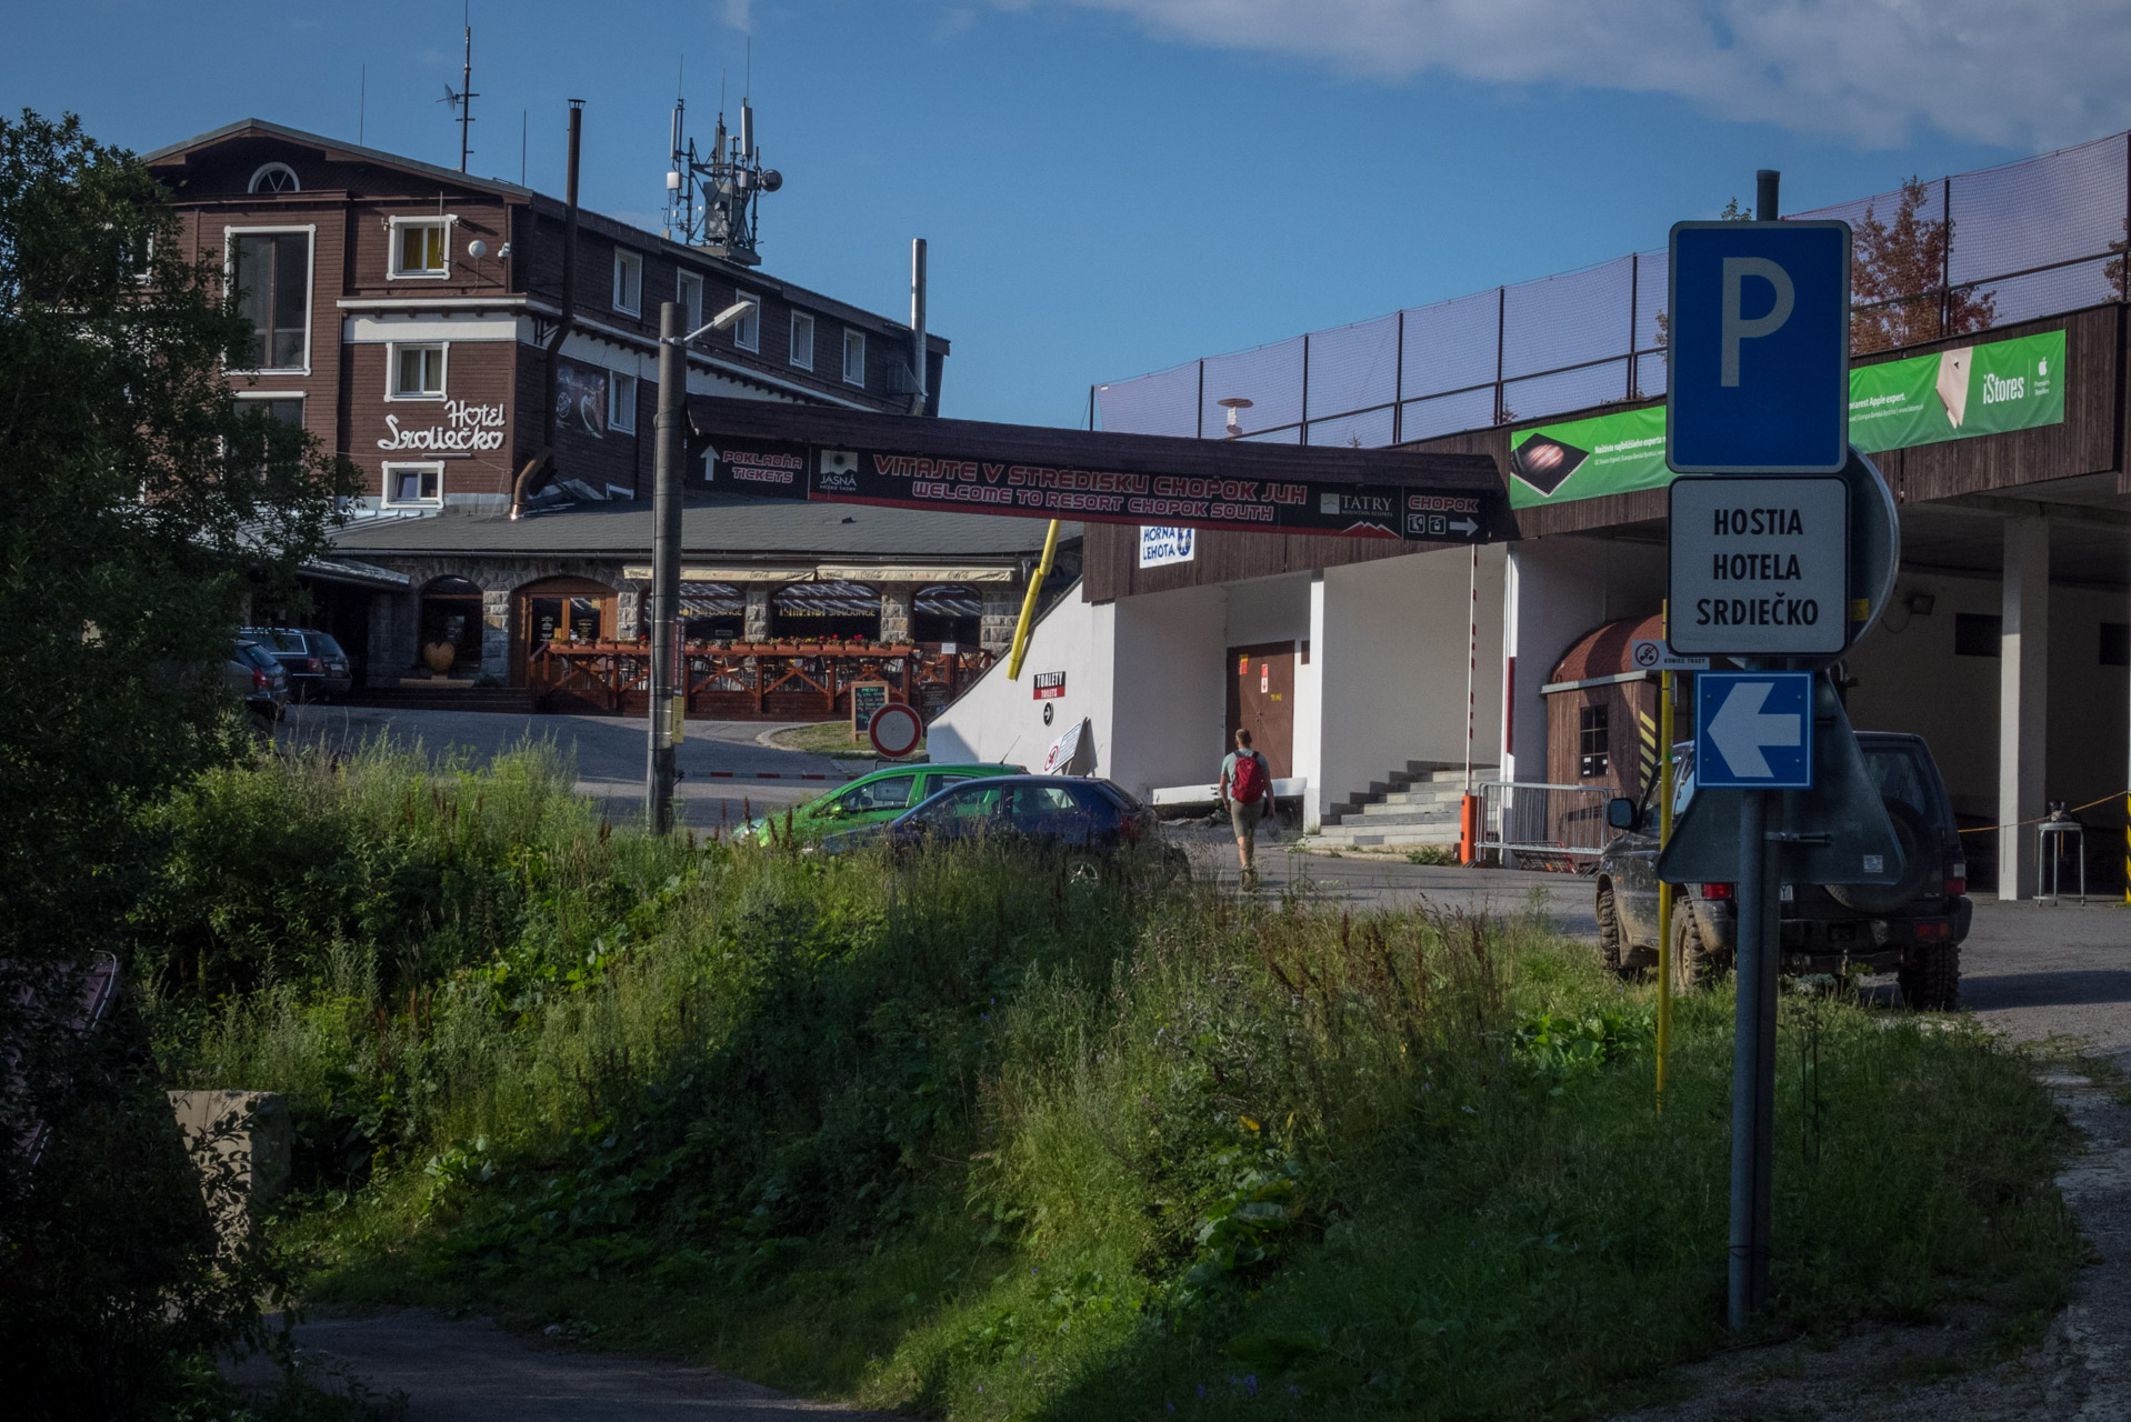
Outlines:
MULTIPOLYGON (((1025 9, 1029 0, 995 0, 1025 9)), ((2125 0, 1051 0, 1193 45, 1409 79, 1673 94, 1724 119, 1899 145, 2131 126, 2125 0)))

